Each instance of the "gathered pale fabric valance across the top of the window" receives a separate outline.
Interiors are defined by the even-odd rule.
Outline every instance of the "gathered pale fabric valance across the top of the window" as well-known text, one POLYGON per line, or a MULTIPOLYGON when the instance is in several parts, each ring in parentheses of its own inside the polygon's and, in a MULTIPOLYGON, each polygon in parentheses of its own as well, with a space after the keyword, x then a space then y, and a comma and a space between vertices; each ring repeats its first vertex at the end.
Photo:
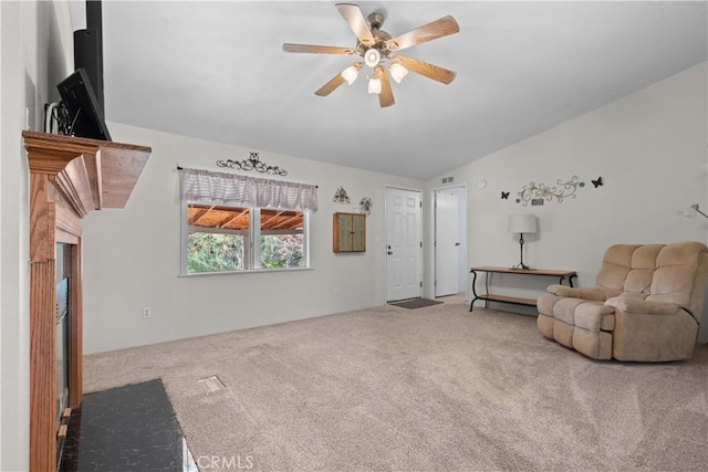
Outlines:
POLYGON ((202 169, 181 169, 181 196, 202 204, 317 210, 316 186, 202 169))

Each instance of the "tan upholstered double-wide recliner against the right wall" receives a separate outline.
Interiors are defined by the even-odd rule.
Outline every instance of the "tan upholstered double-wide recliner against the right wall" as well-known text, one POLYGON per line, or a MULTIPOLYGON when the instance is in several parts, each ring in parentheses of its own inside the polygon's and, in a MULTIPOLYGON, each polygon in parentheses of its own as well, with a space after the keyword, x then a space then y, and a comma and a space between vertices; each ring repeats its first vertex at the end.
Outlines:
POLYGON ((595 287, 550 285, 541 334, 594 359, 688 359, 702 316, 708 248, 700 242, 616 244, 595 287))

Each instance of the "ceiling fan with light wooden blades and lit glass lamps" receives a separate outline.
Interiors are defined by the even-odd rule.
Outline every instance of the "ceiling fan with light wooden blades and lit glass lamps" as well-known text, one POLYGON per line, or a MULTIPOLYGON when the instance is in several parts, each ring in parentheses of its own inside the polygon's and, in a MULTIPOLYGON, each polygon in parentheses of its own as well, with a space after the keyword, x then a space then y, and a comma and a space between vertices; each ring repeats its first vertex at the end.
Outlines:
POLYGON ((456 74, 452 71, 398 54, 398 51, 407 48, 457 33, 460 28, 452 17, 442 17, 407 33, 392 38, 391 34, 381 29, 384 23, 383 13, 373 12, 367 18, 364 18, 358 6, 352 3, 336 3, 336 9, 356 35, 355 48, 283 44, 283 51, 285 52, 360 55, 363 59, 363 61, 354 62, 342 73, 332 77, 315 92, 315 95, 327 96, 344 82, 351 85, 364 65, 373 71, 368 78, 367 91, 369 94, 378 94, 378 103, 382 107, 391 106, 395 103, 388 74, 398 83, 408 71, 444 84, 449 84, 455 78, 456 74))

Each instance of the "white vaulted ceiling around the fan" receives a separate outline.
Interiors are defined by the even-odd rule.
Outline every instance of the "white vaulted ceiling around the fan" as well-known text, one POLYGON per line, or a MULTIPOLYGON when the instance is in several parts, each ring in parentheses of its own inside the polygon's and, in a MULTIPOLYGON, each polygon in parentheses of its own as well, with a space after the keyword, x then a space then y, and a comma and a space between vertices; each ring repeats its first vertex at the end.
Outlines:
POLYGON ((708 56, 706 1, 356 3, 394 36, 452 15, 459 33, 406 55, 457 78, 408 74, 388 108, 362 75, 315 96, 352 57, 281 46, 355 46, 334 1, 104 0, 106 119, 429 179, 708 56))

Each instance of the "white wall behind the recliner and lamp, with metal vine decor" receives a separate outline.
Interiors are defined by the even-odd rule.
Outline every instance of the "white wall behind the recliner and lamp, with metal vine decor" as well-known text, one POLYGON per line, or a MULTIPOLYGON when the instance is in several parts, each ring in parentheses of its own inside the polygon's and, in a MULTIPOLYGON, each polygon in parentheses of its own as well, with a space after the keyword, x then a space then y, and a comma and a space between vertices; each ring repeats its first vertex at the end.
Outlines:
MULTIPOLYGON (((518 235, 506 232, 508 216, 517 212, 534 213, 539 222, 540 233, 525 238, 524 262, 576 270, 583 286, 594 284, 613 243, 707 242, 707 219, 677 216, 691 203, 708 208, 706 83, 702 63, 446 172, 469 183, 470 266, 519 262, 518 235), (556 186, 573 176, 586 182, 574 199, 539 207, 514 201, 532 181, 556 186), (594 188, 591 179, 600 176, 604 185, 594 188), (487 180, 485 189, 477 186, 480 179, 487 180), (502 190, 511 192, 508 200, 502 190)), ((512 287, 510 294, 532 297, 553 282, 533 279, 497 280, 512 287)), ((702 340, 707 327, 704 323, 702 340)))

